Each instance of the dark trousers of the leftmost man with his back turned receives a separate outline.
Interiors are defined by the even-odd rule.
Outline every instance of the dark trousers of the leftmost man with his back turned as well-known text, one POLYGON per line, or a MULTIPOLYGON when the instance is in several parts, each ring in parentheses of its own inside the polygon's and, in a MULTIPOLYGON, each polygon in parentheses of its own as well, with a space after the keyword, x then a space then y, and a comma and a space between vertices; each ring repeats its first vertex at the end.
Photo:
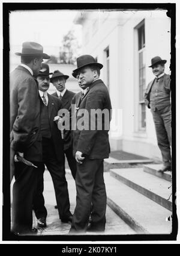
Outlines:
POLYGON ((14 178, 12 231, 26 233, 32 229, 32 201, 37 189, 38 169, 24 163, 14 163, 14 178))

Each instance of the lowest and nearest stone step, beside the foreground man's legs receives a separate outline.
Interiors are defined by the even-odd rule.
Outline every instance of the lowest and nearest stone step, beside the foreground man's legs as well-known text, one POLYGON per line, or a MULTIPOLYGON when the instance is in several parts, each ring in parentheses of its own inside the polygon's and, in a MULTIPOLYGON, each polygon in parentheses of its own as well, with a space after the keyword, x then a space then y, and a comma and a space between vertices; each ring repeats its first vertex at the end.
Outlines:
POLYGON ((170 234, 172 222, 166 221, 171 211, 156 204, 131 187, 104 173, 107 204, 139 234, 170 234))

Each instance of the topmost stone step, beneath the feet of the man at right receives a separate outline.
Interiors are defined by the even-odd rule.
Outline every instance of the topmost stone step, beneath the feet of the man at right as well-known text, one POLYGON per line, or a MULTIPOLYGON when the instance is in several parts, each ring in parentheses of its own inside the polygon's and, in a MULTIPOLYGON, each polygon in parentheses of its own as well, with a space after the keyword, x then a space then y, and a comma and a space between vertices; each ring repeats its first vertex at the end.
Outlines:
POLYGON ((151 173, 152 175, 162 178, 166 181, 172 181, 171 172, 164 172, 164 173, 157 172, 157 170, 159 170, 161 167, 162 167, 162 164, 145 164, 143 166, 143 171, 151 173))

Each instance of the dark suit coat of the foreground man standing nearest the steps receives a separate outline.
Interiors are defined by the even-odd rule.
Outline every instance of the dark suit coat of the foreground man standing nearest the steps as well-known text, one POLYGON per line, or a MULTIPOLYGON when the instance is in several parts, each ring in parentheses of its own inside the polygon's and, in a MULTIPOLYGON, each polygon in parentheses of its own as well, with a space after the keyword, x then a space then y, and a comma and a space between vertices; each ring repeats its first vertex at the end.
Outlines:
MULTIPOLYGON (((106 130, 104 125, 109 125, 111 119, 111 102, 109 97, 109 92, 107 87, 103 83, 102 80, 96 80, 94 83, 89 86, 89 90, 80 102, 81 93, 77 93, 73 100, 72 104, 76 104, 76 107, 79 108, 77 110, 77 122, 79 119, 84 118, 82 115, 79 115, 79 111, 85 109, 89 113, 89 120, 91 119, 91 110, 92 109, 100 109, 107 110, 109 115, 109 120, 105 122, 104 115, 102 118, 102 130, 98 130, 97 126, 95 126, 95 130, 91 130, 91 124, 89 122, 89 130, 73 130, 73 154, 76 154, 76 151, 80 151, 85 155, 88 155, 91 159, 104 159, 109 157, 110 153, 110 145, 109 145, 109 129, 106 130)), ((74 111, 72 110, 72 118, 74 111)), ((97 120, 97 117, 95 117, 97 120)), ((76 122, 76 123, 77 123, 76 122)), ((73 119, 72 119, 73 123, 73 119)), ((73 126, 72 126, 72 129, 73 126)))

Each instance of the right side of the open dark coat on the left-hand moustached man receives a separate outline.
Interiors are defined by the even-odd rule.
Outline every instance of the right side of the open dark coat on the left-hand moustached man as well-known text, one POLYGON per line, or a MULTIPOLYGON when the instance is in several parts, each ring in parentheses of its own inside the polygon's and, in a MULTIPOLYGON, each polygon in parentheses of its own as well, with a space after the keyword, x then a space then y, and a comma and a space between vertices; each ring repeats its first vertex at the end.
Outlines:
POLYGON ((58 129, 58 125, 53 121, 55 116, 58 116, 58 111, 62 108, 62 103, 55 96, 48 95, 48 111, 49 111, 49 123, 50 130, 53 139, 53 145, 55 148, 55 153, 58 161, 63 160, 64 151, 63 151, 63 140, 61 137, 61 131, 58 129))

